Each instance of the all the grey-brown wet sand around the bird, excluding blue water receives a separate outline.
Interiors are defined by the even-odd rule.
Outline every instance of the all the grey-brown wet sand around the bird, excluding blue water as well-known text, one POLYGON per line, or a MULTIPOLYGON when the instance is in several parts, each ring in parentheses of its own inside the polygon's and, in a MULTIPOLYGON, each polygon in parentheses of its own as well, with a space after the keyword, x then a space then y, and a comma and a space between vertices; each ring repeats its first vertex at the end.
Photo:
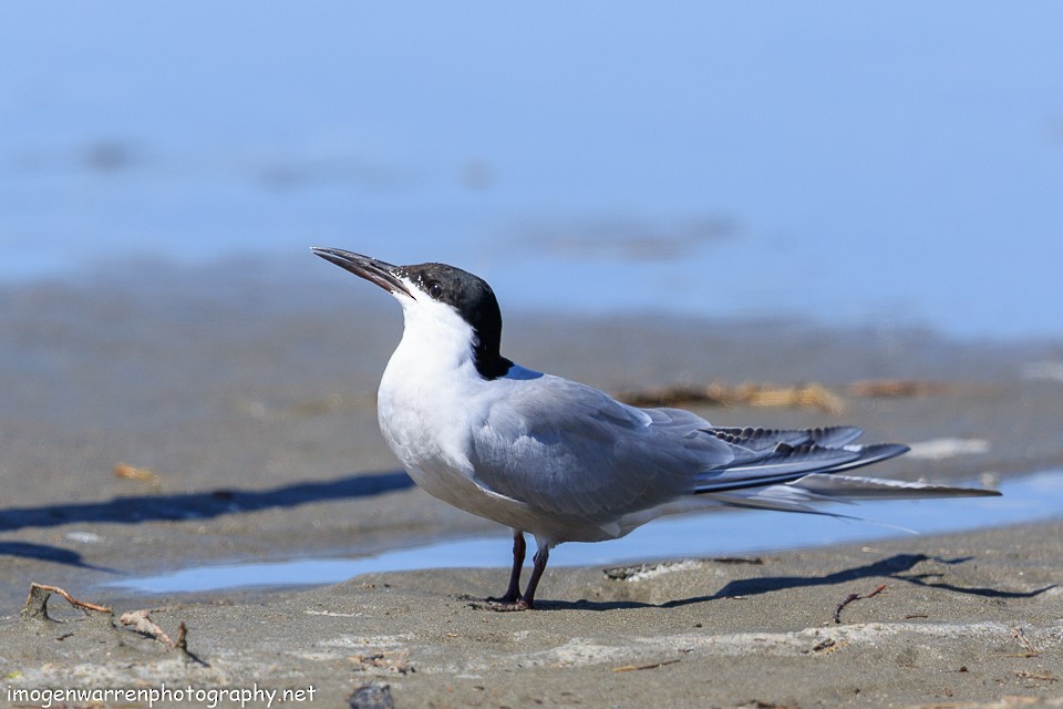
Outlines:
MULTIPOLYGON (((506 533, 437 503, 396 470, 373 392, 400 314, 373 296, 342 279, 295 288, 277 274, 220 267, 0 290, 0 706, 13 689, 164 681, 313 686, 316 706, 344 706, 365 684, 388 685, 398 707, 1063 705, 1061 522, 768 549, 756 564, 708 561, 706 540, 703 558, 632 580, 601 567, 550 568, 537 612, 474 607, 466 595, 504 585, 506 533), (118 476, 122 462, 151 472, 118 476), (102 585, 455 534, 497 535, 498 568, 180 596, 102 585), (114 616, 82 618, 53 596, 49 608, 65 623, 23 619, 32 582, 114 616), (875 595, 835 623, 852 594, 875 595), (137 609, 151 609, 171 638, 184 623, 192 657, 118 623, 137 609)), ((815 381, 839 392, 864 379, 937 382, 947 386, 916 397, 843 393, 842 415, 698 411, 722 424, 847 422, 868 440, 985 444, 878 467, 889 476, 971 482, 1063 464, 1063 382, 1052 374, 1061 343, 668 317, 567 316, 560 325, 508 314, 505 349, 610 391, 712 380, 815 381)))

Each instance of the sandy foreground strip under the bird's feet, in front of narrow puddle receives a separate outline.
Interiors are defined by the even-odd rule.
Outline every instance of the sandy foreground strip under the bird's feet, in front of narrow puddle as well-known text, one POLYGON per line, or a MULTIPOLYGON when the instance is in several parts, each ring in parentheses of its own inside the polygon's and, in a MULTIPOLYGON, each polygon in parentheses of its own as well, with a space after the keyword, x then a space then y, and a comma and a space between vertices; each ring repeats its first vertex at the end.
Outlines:
POLYGON ((156 628, 187 628, 185 654, 116 620, 141 606, 79 617, 53 597, 65 621, 3 617, 0 655, 9 689, 309 684, 322 706, 367 685, 395 706, 1060 706, 1060 540, 1063 521, 627 576, 561 567, 516 614, 469 600, 502 568, 152 603, 156 628), (1016 554, 1031 534, 1050 543, 1016 554))

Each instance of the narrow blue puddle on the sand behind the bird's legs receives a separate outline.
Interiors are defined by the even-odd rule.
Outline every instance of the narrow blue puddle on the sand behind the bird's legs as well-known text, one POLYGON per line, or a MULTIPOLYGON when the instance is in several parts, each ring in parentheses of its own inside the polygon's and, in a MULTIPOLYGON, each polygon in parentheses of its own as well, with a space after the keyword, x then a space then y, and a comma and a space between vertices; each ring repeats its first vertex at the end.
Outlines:
MULTIPOLYGON (((662 518, 628 536, 597 544, 563 544, 554 566, 609 565, 664 558, 750 554, 898 536, 1019 524, 1059 517, 1063 511, 1063 470, 1008 480, 1002 497, 884 501, 835 510, 864 522, 782 512, 720 512, 662 518)), ((445 540, 357 558, 296 558, 270 563, 193 566, 106 585, 138 593, 193 593, 249 586, 334 584, 378 572, 422 568, 507 567, 509 540, 445 540)))

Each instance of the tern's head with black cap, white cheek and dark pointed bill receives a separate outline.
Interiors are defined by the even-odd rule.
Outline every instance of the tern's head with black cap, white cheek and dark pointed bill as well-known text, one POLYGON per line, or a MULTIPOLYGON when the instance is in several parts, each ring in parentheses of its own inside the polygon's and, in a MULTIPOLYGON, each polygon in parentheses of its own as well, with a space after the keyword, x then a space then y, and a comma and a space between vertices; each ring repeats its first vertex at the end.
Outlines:
POLYGON ((484 379, 497 379, 513 367, 499 352, 502 311, 483 278, 446 264, 394 266, 338 248, 311 250, 394 296, 402 305, 407 328, 431 323, 452 337, 464 338, 484 379))

